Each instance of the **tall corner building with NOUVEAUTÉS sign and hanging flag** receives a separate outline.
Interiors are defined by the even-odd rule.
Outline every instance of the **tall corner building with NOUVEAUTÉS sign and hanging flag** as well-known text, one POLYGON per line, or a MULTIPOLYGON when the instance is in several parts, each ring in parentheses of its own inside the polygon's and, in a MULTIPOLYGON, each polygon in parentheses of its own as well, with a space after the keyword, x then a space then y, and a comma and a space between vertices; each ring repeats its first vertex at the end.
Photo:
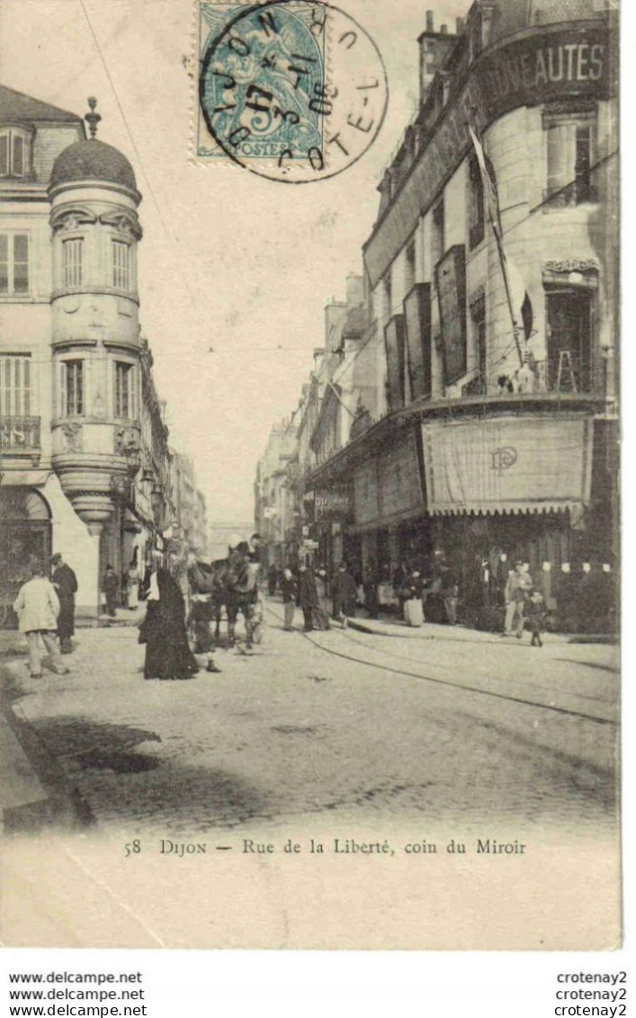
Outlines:
POLYGON ((515 558, 562 615, 614 569, 617 24, 604 7, 477 0, 457 34, 427 13, 419 109, 364 245, 374 418, 310 478, 353 472, 350 533, 385 572, 443 551, 468 618, 515 558), (506 277, 469 124, 496 181, 506 277))

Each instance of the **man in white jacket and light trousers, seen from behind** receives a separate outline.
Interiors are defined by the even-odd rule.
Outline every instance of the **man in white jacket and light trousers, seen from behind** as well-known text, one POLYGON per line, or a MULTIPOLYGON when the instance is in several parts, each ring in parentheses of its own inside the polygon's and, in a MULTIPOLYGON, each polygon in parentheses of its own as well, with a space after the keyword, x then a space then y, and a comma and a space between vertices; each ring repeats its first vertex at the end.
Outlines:
POLYGON ((26 636, 28 667, 32 678, 42 678, 41 642, 49 655, 51 670, 57 675, 67 675, 60 658, 55 636, 60 614, 60 602, 55 587, 39 563, 31 567, 32 578, 22 583, 13 603, 20 632, 26 636))

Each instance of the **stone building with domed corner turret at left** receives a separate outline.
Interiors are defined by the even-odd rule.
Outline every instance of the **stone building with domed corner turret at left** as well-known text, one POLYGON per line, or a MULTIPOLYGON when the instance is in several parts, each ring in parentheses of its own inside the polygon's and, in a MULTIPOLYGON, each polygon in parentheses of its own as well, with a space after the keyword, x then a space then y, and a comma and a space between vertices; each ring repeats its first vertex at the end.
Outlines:
MULTIPOLYGON (((3 602, 34 556, 75 569, 95 615, 125 569, 140 467, 136 246, 128 160, 80 117, 0 89, 0 572, 3 602), (127 533, 127 536, 126 536, 127 533)), ((48 561, 47 561, 48 566, 48 561)))

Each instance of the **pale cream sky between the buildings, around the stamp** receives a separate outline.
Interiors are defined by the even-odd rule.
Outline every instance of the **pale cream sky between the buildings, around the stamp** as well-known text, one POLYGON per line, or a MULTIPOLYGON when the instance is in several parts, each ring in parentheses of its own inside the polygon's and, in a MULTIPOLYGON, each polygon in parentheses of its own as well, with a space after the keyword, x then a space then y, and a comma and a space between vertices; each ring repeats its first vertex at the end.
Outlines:
MULTIPOLYGON (((417 102, 426 4, 342 0, 375 40, 389 109, 366 154, 338 176, 289 186, 191 158, 191 0, 3 0, 0 81, 83 115, 119 148, 143 195, 141 332, 168 404, 171 443, 194 460, 208 518, 253 516, 271 427, 298 404, 324 343, 324 307, 361 271, 378 182, 417 102)), ((468 0, 430 0, 452 30, 468 0)), ((193 59, 194 58, 194 59, 193 59)))

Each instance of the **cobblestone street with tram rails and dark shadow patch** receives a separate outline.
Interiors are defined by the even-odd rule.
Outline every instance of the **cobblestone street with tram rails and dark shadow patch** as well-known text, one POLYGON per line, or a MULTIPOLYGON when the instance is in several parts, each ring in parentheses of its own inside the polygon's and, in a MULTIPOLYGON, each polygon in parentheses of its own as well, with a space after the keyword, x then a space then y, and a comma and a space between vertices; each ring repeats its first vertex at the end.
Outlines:
POLYGON ((615 647, 442 627, 306 638, 281 614, 271 601, 253 655, 220 649, 221 674, 200 659, 186 682, 143 680, 134 627, 79 630, 66 676, 8 666, 40 766, 86 823, 175 839, 321 813, 613 826, 615 647))

